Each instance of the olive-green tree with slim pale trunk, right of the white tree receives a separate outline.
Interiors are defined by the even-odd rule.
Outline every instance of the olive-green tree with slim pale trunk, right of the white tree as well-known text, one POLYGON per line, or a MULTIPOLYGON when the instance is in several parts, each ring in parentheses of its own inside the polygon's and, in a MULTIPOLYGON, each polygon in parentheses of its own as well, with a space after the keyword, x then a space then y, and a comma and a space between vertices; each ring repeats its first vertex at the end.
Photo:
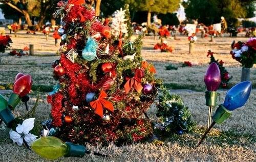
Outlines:
POLYGON ((147 25, 151 25, 151 13, 172 13, 179 8, 180 0, 126 0, 136 11, 147 11, 147 25))

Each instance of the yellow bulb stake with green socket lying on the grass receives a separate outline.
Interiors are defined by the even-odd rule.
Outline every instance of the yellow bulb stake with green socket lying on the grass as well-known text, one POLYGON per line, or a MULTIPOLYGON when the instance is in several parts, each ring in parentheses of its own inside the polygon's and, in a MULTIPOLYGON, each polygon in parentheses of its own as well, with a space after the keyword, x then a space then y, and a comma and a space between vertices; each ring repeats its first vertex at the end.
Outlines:
MULTIPOLYGON (((57 159, 59 157, 82 157, 90 151, 83 145, 77 145, 70 142, 62 142, 56 137, 40 137, 31 145, 33 151, 41 157, 47 159, 57 159)), ((95 155, 108 156, 94 152, 95 155)))

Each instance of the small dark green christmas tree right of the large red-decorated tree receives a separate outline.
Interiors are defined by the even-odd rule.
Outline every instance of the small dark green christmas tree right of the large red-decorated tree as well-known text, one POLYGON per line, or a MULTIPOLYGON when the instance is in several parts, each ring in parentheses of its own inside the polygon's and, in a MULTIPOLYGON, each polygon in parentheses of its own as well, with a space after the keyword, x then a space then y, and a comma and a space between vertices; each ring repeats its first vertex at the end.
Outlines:
POLYGON ((154 128, 156 134, 161 137, 169 137, 172 134, 183 134, 193 130, 195 123, 191 114, 179 95, 170 94, 161 86, 162 94, 157 104, 158 122, 154 128))

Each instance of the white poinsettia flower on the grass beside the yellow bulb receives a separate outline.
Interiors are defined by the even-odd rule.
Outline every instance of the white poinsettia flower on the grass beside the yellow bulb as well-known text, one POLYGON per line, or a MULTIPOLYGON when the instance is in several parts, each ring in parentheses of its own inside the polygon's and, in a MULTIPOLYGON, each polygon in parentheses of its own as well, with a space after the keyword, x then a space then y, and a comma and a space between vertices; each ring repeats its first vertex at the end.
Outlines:
POLYGON ((18 146, 22 146, 23 139, 27 142, 29 146, 36 140, 36 137, 34 134, 29 133, 30 130, 34 127, 35 118, 29 118, 23 121, 22 125, 18 124, 16 127, 16 131, 11 130, 9 132, 10 139, 15 143, 17 143, 18 146))

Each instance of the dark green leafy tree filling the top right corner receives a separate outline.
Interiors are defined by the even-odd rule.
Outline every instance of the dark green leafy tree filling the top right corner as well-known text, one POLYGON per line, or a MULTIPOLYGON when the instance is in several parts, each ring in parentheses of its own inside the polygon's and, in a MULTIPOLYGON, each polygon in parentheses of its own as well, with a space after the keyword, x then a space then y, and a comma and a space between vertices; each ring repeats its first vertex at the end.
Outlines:
POLYGON ((187 18, 198 19, 206 25, 219 23, 224 16, 228 24, 237 24, 237 18, 253 17, 254 0, 188 0, 183 2, 187 18))

